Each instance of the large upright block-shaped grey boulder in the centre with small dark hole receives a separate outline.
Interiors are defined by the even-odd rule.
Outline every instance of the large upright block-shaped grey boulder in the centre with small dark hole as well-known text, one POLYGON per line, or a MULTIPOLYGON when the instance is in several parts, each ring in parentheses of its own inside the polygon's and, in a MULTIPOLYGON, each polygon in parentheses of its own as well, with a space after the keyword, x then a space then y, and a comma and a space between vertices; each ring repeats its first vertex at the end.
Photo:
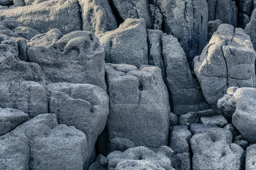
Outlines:
POLYGON ((135 146, 151 148, 166 145, 170 106, 160 68, 137 70, 134 65, 107 64, 105 70, 110 99, 109 140, 125 138, 135 146))

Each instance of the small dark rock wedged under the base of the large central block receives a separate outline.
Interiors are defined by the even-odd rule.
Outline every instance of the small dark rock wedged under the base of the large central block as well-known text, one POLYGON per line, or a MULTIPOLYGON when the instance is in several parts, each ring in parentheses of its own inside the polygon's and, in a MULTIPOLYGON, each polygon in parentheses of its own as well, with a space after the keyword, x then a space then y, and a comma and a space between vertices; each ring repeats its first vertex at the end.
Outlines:
POLYGON ((131 142, 129 139, 115 137, 110 140, 110 152, 120 150, 124 152, 125 150, 136 147, 134 142, 131 142))

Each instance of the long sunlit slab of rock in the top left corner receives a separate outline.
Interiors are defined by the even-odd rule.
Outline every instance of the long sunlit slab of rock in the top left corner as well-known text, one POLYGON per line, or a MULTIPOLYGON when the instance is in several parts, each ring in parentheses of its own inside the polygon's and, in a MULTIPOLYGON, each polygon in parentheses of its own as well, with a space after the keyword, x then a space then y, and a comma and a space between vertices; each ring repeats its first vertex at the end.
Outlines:
POLYGON ((46 33, 58 28, 63 34, 82 30, 78 0, 47 0, 32 6, 3 9, 0 15, 10 29, 27 26, 46 33))

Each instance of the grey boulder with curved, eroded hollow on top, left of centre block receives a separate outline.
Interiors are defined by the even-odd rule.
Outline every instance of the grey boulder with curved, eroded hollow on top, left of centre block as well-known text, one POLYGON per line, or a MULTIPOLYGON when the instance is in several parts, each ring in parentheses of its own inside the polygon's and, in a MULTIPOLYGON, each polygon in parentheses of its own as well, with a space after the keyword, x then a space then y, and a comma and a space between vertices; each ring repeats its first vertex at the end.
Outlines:
POLYGON ((50 81, 88 83, 106 90, 104 48, 93 33, 74 31, 62 37, 52 29, 27 45, 28 60, 38 63, 50 81))

